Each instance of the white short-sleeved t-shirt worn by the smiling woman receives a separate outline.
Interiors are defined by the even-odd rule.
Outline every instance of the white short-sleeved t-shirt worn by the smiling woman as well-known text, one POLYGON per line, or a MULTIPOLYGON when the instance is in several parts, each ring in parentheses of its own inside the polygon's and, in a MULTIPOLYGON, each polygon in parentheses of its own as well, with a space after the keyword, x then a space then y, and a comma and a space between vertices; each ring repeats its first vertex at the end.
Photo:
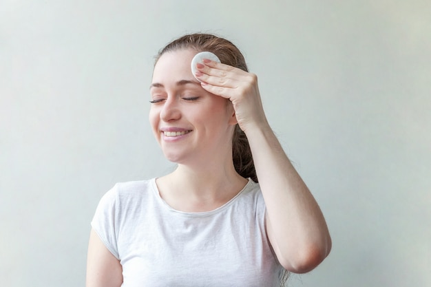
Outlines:
POLYGON ((265 211, 252 180, 218 209, 186 213, 162 200, 152 179, 116 184, 92 228, 120 260, 123 287, 280 286, 265 211))

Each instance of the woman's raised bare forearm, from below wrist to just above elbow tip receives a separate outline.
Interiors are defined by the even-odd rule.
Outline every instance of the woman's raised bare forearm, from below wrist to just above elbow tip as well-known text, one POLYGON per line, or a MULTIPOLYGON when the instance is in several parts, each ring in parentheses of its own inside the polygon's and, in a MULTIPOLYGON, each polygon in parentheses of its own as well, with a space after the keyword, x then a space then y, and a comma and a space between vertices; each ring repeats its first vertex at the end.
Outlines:
POLYGON ((330 251, 330 235, 313 195, 269 125, 251 129, 247 138, 266 204, 271 244, 277 248, 277 257, 291 265, 307 256, 316 256, 315 260, 322 261, 330 251))

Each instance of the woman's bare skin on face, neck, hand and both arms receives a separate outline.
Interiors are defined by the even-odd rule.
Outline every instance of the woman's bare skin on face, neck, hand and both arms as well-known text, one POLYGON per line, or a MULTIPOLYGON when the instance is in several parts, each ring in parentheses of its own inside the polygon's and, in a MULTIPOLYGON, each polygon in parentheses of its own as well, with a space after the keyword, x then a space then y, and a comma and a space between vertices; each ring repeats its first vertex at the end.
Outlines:
MULTIPOLYGON (((156 103, 149 120, 165 156, 178 163, 173 173, 156 180, 160 196, 185 212, 210 211, 233 198, 247 182, 232 162, 231 135, 238 123, 249 139, 277 259, 293 273, 312 270, 330 252, 330 235, 317 202, 266 120, 257 76, 204 60, 197 64, 199 83, 190 69, 195 54, 167 52, 154 67, 150 92, 156 103), (168 138, 166 129, 187 134, 168 138)), ((120 262, 92 231, 86 286, 118 287, 122 282, 120 262)))

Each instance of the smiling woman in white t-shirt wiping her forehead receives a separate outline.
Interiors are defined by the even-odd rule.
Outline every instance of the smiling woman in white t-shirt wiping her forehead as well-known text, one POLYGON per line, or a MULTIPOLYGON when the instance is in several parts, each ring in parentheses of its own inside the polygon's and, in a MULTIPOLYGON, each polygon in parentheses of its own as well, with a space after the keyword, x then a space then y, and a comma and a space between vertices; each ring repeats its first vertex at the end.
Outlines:
POLYGON ((330 252, 322 212, 269 126, 257 77, 231 42, 189 34, 158 54, 149 121, 166 176, 106 193, 87 287, 280 286, 330 252), (191 60, 209 51, 191 72, 191 60), (259 183, 257 183, 257 180, 259 183))

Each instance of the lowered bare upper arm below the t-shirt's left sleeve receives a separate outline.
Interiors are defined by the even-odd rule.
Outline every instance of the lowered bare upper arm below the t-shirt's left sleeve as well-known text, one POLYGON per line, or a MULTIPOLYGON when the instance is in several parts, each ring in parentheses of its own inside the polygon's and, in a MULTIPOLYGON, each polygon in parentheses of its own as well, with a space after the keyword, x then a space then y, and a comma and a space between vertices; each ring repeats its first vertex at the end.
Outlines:
POLYGON ((92 229, 87 255, 86 287, 120 287, 123 268, 92 229))

